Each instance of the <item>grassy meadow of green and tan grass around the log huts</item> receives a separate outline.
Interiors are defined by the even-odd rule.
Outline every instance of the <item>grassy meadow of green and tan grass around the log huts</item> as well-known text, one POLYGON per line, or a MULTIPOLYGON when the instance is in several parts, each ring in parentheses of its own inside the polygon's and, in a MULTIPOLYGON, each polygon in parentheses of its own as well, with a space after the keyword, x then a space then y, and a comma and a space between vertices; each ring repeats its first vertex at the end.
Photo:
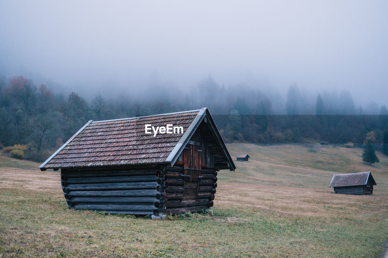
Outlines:
POLYGON ((382 257, 388 157, 317 144, 229 144, 214 214, 151 220, 67 208, 59 172, 0 157, 0 257, 382 257), (334 194, 333 174, 371 171, 372 196, 334 194))

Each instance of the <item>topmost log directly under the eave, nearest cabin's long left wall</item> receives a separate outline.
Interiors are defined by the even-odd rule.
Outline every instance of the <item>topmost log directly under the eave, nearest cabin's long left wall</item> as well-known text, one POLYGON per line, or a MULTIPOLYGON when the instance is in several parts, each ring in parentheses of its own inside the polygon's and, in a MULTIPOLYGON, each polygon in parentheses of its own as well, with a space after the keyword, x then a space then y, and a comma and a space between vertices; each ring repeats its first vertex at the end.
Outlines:
POLYGON ((88 171, 64 171, 61 172, 62 180, 73 177, 113 177, 130 175, 155 175, 156 169, 139 170, 88 170, 88 171))

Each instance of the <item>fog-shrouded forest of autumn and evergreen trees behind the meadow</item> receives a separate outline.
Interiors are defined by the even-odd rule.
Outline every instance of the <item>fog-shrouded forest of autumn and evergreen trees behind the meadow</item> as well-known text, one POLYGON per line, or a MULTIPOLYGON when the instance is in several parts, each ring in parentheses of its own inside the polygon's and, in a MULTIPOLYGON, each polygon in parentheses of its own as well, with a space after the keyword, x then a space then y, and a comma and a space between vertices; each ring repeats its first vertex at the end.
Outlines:
POLYGON ((120 119, 208 107, 225 142, 311 143, 362 146, 368 132, 376 149, 388 144, 388 110, 370 101, 354 103, 349 91, 314 97, 291 85, 285 98, 241 84, 220 86, 205 77, 186 93, 155 86, 146 94, 116 98, 90 91, 64 94, 24 76, 0 77, 0 146, 18 158, 44 161, 88 120, 120 119), (89 99, 90 101, 87 101, 89 99), (283 100, 284 99, 284 100, 283 100), (11 146, 11 147, 10 147, 11 146))

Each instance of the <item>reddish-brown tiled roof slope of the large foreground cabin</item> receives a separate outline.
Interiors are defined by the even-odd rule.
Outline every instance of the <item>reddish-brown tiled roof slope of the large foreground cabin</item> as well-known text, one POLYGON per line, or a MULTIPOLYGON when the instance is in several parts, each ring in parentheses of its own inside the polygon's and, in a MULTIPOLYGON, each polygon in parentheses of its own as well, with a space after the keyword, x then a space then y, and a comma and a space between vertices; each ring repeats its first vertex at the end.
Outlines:
MULTIPOLYGON (((134 165, 165 162, 184 134, 145 134, 145 124, 182 126, 184 132, 199 110, 87 124, 41 169, 134 165)), ((152 129, 151 129, 152 131, 152 129)))

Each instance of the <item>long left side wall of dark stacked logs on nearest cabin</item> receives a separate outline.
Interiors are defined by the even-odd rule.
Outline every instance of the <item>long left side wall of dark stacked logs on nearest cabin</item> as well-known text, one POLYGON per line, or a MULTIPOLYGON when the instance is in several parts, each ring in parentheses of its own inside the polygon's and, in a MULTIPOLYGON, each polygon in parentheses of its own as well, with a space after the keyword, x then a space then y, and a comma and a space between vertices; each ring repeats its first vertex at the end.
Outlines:
POLYGON ((161 193, 157 190, 157 171, 155 168, 62 169, 61 183, 71 209, 151 215, 155 210, 156 194, 161 193))

